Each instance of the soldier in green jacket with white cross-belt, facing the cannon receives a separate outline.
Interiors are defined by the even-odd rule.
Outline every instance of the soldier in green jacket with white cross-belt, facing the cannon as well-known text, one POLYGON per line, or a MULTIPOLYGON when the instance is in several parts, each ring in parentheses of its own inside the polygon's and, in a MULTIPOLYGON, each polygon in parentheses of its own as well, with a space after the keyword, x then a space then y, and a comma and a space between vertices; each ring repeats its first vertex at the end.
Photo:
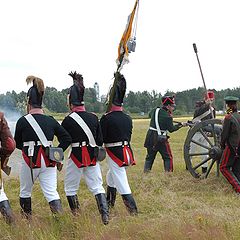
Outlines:
POLYGON ((173 156, 168 141, 168 132, 180 129, 183 124, 173 125, 173 110, 175 108, 174 96, 162 97, 162 107, 151 111, 150 127, 148 129, 144 147, 147 148, 144 172, 152 169, 156 154, 159 152, 163 158, 165 172, 173 171, 173 156))

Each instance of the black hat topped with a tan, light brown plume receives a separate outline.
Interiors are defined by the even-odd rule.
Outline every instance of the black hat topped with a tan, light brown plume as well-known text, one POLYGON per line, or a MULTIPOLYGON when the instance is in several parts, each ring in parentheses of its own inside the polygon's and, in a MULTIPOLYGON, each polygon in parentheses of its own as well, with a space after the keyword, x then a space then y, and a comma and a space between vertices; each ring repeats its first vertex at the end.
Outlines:
POLYGON ((41 108, 44 94, 43 80, 35 76, 28 76, 26 82, 33 84, 27 92, 28 104, 34 108, 41 108))

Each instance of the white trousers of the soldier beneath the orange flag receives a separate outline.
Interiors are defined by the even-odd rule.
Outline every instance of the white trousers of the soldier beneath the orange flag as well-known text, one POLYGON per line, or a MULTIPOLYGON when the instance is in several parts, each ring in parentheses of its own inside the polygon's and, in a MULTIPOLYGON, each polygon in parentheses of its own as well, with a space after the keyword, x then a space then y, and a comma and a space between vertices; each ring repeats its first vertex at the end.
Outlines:
POLYGON ((126 167, 119 167, 108 154, 106 159, 109 167, 106 177, 107 185, 109 187, 115 187, 121 195, 131 194, 126 167))

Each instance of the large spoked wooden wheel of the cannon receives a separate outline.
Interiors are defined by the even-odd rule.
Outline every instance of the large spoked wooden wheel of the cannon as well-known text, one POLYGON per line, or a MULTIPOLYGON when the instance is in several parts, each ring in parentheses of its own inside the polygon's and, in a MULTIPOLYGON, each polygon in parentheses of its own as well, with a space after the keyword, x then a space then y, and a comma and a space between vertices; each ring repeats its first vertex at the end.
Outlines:
POLYGON ((219 162, 222 156, 220 137, 222 121, 209 119, 195 124, 189 131, 184 143, 184 160, 188 171, 195 178, 207 178, 216 162, 217 176, 219 176, 219 162), (195 134, 203 139, 197 141, 195 134), (195 145, 195 146, 194 146, 195 145), (193 146, 195 151, 193 152, 193 146), (206 173, 202 173, 203 164, 207 163, 206 173))

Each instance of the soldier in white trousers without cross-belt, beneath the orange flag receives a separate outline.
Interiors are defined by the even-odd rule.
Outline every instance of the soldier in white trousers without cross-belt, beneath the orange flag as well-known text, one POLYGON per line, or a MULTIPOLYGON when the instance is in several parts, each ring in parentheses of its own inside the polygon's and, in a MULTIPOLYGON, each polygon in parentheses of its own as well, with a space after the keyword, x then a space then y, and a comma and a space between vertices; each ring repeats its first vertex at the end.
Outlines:
POLYGON ((128 183, 126 167, 135 164, 130 141, 132 135, 132 119, 123 112, 123 98, 126 92, 126 80, 119 72, 115 73, 116 88, 109 112, 100 120, 103 142, 107 151, 107 200, 113 207, 116 192, 122 196, 123 202, 132 215, 137 214, 136 202, 128 183))

